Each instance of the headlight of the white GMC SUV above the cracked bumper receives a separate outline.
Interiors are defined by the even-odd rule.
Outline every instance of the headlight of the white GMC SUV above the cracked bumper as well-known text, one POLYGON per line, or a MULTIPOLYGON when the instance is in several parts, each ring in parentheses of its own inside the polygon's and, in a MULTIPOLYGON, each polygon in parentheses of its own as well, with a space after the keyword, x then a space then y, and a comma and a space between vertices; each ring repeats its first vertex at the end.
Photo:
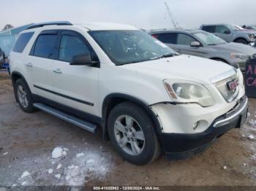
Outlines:
POLYGON ((195 82, 176 82, 172 79, 164 80, 165 89, 176 103, 179 104, 199 104, 200 106, 214 105, 211 93, 204 87, 195 82))

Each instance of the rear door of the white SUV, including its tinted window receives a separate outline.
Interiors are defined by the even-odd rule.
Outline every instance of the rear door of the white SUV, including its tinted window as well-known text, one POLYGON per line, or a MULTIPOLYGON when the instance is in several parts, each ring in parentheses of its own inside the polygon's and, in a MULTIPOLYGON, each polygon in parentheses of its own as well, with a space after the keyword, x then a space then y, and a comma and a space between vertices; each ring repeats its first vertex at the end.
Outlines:
POLYGON ((31 49, 26 68, 29 70, 32 92, 44 98, 53 98, 53 59, 56 56, 58 33, 42 31, 31 49))

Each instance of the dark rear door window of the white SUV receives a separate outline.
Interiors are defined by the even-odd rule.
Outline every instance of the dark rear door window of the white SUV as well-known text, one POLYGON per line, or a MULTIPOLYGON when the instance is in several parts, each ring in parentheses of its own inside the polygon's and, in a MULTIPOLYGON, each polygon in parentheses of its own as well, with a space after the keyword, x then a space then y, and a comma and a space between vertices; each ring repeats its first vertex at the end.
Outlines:
POLYGON ((57 34, 40 34, 34 45, 33 55, 42 58, 53 58, 57 37, 57 34))

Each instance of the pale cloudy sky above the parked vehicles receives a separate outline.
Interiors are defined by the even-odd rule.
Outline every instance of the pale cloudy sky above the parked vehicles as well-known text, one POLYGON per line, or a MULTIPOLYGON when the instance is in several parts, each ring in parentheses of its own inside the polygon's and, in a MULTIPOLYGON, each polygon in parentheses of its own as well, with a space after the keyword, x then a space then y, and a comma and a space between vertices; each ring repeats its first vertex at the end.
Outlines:
POLYGON ((203 23, 256 24, 256 0, 0 0, 0 29, 56 20, 126 23, 138 28, 173 28, 167 2, 182 28, 203 23))

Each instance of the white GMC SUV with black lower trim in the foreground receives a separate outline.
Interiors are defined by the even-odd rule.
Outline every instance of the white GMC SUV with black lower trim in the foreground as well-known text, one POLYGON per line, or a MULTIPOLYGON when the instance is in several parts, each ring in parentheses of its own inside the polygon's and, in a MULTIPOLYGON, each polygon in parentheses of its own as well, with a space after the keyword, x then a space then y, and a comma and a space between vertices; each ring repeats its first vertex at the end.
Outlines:
POLYGON ((162 151, 170 160, 195 155, 246 120, 240 69, 178 55, 133 26, 35 24, 18 37, 10 70, 23 111, 100 127, 135 164, 162 151))

